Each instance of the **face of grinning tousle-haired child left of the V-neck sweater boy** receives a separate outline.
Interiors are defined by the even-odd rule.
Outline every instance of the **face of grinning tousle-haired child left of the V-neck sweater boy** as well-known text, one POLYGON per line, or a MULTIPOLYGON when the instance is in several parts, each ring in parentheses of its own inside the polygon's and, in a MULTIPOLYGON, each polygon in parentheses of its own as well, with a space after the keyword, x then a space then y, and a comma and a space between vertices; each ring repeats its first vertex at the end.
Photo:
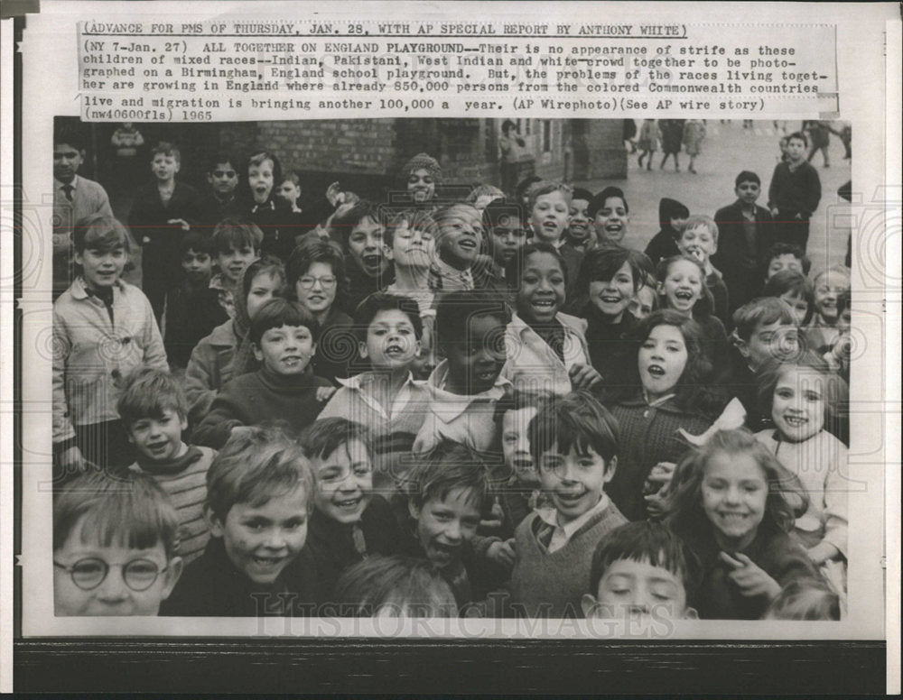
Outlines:
POLYGON ((431 498, 417 507, 409 502, 417 521, 417 539, 433 566, 445 568, 461 559, 461 548, 479 526, 479 504, 472 490, 452 489, 444 499, 431 498))

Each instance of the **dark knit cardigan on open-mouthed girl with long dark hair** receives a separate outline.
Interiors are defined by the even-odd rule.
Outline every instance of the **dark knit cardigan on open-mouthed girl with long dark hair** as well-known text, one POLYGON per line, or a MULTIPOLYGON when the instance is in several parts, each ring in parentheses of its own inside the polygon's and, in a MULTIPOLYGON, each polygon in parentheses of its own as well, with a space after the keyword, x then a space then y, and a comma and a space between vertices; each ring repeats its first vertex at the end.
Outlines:
POLYGON ((610 408, 618 420, 618 465, 605 491, 628 520, 645 520, 643 484, 659 462, 677 462, 691 447, 677 432, 684 428, 700 435, 712 421, 681 410, 674 399, 649 406, 642 398, 622 401, 610 408))

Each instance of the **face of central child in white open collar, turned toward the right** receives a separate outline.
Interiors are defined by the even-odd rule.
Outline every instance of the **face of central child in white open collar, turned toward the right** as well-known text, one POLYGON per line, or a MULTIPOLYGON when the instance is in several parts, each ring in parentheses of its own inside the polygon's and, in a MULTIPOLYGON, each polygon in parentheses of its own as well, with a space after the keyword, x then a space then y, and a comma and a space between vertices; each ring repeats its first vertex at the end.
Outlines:
POLYGON ((505 324, 489 314, 470 318, 467 336, 450 343, 446 355, 450 377, 468 394, 489 391, 505 364, 505 324))

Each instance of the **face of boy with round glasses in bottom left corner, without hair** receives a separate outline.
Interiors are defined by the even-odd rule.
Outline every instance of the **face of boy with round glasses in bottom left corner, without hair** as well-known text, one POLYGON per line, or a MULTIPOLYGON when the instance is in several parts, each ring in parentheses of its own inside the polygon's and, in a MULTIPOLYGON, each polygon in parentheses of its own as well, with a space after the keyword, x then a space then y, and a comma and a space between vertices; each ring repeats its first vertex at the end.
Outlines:
POLYGON ((167 560, 163 542, 133 549, 118 542, 107 547, 84 541, 81 530, 87 517, 82 516, 62 547, 53 552, 53 613, 60 617, 156 615, 182 574, 182 559, 167 560), (86 591, 76 585, 63 568, 73 566, 81 585, 94 587, 86 591), (107 576, 103 577, 105 568, 107 576))

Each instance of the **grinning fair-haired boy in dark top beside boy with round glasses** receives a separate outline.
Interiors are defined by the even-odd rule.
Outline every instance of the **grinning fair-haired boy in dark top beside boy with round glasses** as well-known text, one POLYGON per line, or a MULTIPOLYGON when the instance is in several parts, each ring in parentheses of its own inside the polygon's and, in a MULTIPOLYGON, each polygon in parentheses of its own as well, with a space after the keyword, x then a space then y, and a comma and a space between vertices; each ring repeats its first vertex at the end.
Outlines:
POLYGON ((210 539, 161 609, 178 617, 291 617, 313 611, 299 566, 313 500, 301 447, 277 430, 231 437, 207 473, 210 539))

